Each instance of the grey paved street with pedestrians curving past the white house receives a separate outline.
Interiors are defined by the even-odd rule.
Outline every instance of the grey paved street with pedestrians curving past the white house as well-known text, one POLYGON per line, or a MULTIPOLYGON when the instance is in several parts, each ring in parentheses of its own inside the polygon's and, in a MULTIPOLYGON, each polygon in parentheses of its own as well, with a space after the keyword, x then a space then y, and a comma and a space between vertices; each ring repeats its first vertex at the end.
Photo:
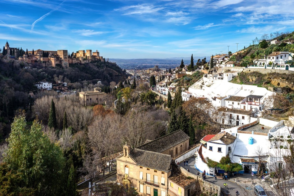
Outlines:
MULTIPOLYGON (((181 162, 180 163, 180 165, 181 165, 181 167, 183 167, 183 168, 185 168, 185 169, 189 169, 190 170, 190 172, 191 173, 193 173, 193 174, 196 174, 197 175, 197 173, 198 173, 198 170, 196 170, 195 169, 195 167, 194 167, 194 164, 195 164, 195 158, 194 158, 194 156, 193 157, 191 157, 190 159, 188 159, 188 166, 184 166, 184 162, 181 162)), ((186 164, 185 164, 186 165, 186 164)), ((200 176, 201 176, 201 174, 200 174, 200 176)), ((214 177, 212 177, 212 176, 206 176, 207 177, 207 181, 208 182, 211 182, 211 183, 213 183, 213 184, 216 184, 216 185, 218 185, 218 186, 220 186, 221 187, 221 191, 226 195, 226 196, 228 196, 228 195, 235 195, 236 193, 236 190, 238 190, 239 191, 239 193, 240 193, 240 196, 243 196, 243 195, 245 195, 245 196, 251 196, 251 195, 254 195, 254 192, 253 192, 253 185, 251 185, 250 184, 250 182, 249 183, 236 183, 236 182, 232 182, 232 181, 230 181, 230 180, 223 180, 223 179, 221 179, 221 178, 217 178, 217 180, 214 180, 214 177), (228 184, 228 189, 224 189, 223 188, 223 183, 224 182, 226 182, 227 184, 228 184)), ((239 175, 238 175, 238 177, 239 177, 239 175)), ((241 178, 241 177, 240 177, 241 178)), ((235 178, 234 179, 232 179, 232 180, 235 180, 235 178)))

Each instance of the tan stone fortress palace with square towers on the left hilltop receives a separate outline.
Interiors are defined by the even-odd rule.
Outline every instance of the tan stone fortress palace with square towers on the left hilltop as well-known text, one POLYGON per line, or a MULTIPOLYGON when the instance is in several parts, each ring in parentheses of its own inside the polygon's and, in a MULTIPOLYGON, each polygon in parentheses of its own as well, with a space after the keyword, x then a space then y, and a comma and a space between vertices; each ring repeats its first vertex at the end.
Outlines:
MULTIPOLYGON (((16 51, 16 48, 9 47, 8 41, 6 41, 5 49, 7 50, 7 54, 10 54, 10 51, 13 53, 16 51)), ((13 58, 12 56, 9 56, 13 58)), ((98 50, 92 53, 92 50, 79 50, 74 53, 74 57, 70 57, 68 55, 67 50, 57 50, 57 51, 48 51, 48 50, 35 50, 34 54, 33 51, 28 51, 28 54, 24 54, 22 57, 19 57, 19 61, 27 62, 27 63, 34 63, 34 62, 41 62, 43 66, 52 66, 56 67, 57 64, 60 64, 62 67, 69 67, 70 63, 89 63, 91 61, 101 61, 105 62, 103 57, 100 57, 98 50), (43 57, 43 53, 48 53, 48 57, 43 57), (74 58, 75 57, 75 58, 74 58)))

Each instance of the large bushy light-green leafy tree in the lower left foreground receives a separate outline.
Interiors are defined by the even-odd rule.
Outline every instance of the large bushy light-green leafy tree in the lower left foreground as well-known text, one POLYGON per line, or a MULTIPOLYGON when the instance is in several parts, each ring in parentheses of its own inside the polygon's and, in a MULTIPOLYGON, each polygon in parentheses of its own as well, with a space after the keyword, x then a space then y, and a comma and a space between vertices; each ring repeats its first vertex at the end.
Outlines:
POLYGON ((35 189, 35 195, 63 195, 65 159, 61 148, 51 143, 42 129, 38 120, 27 128, 24 114, 15 117, 4 163, 20 175, 20 187, 35 189))

